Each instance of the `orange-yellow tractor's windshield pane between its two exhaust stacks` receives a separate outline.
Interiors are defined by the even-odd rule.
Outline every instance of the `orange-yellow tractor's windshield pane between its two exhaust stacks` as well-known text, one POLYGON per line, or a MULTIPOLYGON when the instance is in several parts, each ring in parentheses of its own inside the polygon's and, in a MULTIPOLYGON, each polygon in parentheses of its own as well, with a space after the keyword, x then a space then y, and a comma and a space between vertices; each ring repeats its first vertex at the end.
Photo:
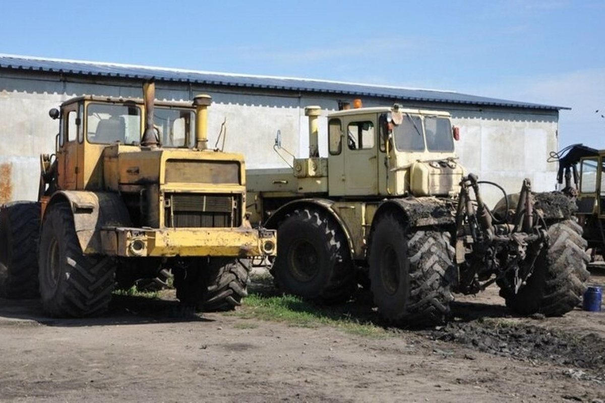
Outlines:
POLYGON ((188 109, 154 109, 154 128, 164 147, 187 147, 193 140, 195 114, 188 109))

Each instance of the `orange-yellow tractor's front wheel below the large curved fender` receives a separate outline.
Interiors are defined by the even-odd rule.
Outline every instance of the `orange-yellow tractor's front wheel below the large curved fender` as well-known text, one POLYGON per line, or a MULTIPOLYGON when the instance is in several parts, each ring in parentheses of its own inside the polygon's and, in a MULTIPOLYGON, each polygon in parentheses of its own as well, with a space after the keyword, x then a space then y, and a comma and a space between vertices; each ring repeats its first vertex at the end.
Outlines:
POLYGON ((67 203, 48 207, 39 253, 42 308, 53 317, 90 317, 107 310, 116 265, 108 256, 84 255, 67 203))

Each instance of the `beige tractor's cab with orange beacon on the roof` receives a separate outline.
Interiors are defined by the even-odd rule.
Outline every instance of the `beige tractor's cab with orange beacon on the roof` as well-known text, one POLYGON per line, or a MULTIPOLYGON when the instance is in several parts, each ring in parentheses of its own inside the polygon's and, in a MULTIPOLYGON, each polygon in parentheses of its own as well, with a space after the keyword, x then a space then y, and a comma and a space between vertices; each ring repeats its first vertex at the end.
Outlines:
POLYGON ((330 195, 457 193, 454 132, 447 112, 398 105, 328 115, 330 195))

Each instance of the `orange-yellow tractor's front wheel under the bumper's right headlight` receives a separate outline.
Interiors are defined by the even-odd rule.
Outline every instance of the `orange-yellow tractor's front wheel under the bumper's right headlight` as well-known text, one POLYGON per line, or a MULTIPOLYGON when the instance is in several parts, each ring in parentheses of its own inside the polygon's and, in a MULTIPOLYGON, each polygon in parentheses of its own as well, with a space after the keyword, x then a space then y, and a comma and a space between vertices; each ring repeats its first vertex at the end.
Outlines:
POLYGON ((248 295, 249 268, 239 259, 215 257, 174 269, 177 298, 204 312, 231 311, 248 295))

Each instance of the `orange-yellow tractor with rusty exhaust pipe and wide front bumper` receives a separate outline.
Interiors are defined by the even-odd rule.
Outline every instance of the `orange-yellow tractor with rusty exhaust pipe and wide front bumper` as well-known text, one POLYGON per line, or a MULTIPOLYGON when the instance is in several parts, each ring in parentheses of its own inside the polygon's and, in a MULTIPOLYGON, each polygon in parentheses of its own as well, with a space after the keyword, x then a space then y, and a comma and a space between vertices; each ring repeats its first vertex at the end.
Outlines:
POLYGON ((246 296, 241 259, 273 256, 276 234, 246 214, 243 156, 208 149, 211 97, 193 103, 83 96, 51 109, 56 152, 41 155, 38 202, 0 210, 0 286, 41 296, 48 314, 106 311, 117 279, 174 273, 204 310, 246 296))

